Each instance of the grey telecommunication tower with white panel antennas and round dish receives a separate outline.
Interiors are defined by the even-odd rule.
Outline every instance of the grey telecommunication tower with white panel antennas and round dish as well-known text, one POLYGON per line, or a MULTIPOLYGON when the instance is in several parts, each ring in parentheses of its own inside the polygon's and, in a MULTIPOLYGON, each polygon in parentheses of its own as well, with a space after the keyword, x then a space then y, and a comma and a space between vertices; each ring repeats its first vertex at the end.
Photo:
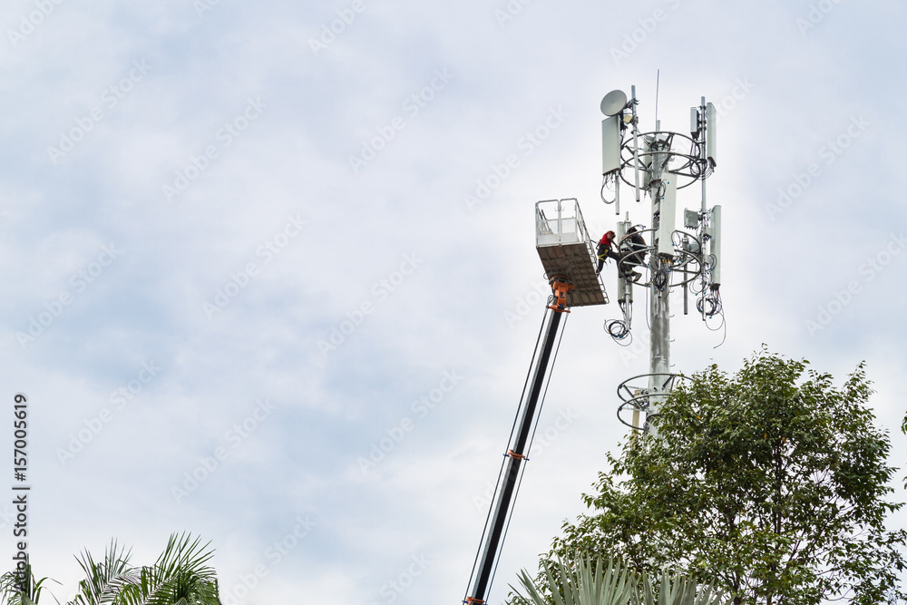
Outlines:
MULTIPOLYGON (((658 404, 670 392, 678 375, 670 364, 670 304, 672 288, 682 288, 684 315, 688 297, 697 297, 697 311, 707 322, 724 311, 721 286, 721 206, 707 207, 706 180, 715 170, 715 106, 702 97, 698 107, 690 108, 689 135, 655 130, 640 132, 636 86, 627 94, 616 90, 601 100, 602 186, 601 199, 614 205, 620 215, 620 184, 633 188, 639 202, 648 193, 651 200, 651 227, 633 225, 629 212, 617 225, 618 264, 617 301, 623 317, 605 323, 610 336, 620 342, 630 336, 633 288, 643 288, 649 298, 649 374, 633 376, 620 383, 618 408, 620 422, 635 429, 654 431, 649 420, 658 413, 658 404), (701 183, 697 210, 684 210, 678 226, 678 190, 701 183), (613 191, 613 198, 605 197, 613 191), (641 236, 642 239, 639 239, 641 236), (649 239, 646 244, 645 240, 649 239), (636 268, 644 268, 646 279, 632 281, 636 268), (644 384, 639 384, 639 383, 644 384), (632 420, 622 416, 631 411, 632 420), (645 415, 639 424, 639 414, 645 415)), ((712 321, 714 324, 715 322, 712 321)), ((717 329, 717 328, 713 328, 717 329)))

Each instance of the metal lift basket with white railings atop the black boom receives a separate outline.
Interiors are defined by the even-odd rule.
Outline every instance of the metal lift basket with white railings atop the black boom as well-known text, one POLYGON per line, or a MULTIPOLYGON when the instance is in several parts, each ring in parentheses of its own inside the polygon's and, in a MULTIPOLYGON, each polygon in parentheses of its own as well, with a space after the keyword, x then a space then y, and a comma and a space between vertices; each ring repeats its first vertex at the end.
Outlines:
POLYGON ((571 307, 608 303, 605 286, 595 272, 595 246, 575 198, 535 204, 535 248, 549 279, 563 276, 573 285, 571 307))

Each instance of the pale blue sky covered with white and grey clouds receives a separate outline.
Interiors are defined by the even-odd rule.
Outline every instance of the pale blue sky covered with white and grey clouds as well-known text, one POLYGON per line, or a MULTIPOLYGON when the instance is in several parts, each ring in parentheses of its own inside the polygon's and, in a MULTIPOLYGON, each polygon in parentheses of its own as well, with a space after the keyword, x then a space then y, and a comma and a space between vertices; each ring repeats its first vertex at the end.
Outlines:
MULTIPOLYGON (((543 315, 533 204, 613 227, 600 99, 635 84, 650 129, 658 70, 664 128, 720 110, 727 338, 678 312, 675 369, 866 360, 903 466, 905 10, 10 0, 0 377, 39 575, 68 600, 73 554, 187 531, 225 602, 461 600, 543 315)), ((629 349, 616 305, 571 314, 493 602, 616 450, 643 307, 629 349)))

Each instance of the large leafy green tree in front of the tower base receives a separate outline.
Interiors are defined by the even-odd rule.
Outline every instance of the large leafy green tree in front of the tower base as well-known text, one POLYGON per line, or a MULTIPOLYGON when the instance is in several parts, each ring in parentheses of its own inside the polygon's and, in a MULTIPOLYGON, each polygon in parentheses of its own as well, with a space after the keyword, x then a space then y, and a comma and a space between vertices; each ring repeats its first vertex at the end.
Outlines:
POLYGON ((734 376, 711 366, 678 381, 652 419, 658 437, 608 454, 583 495, 592 512, 564 524, 550 558, 668 565, 737 605, 903 599, 907 533, 884 526, 902 504, 885 499, 896 469, 863 364, 840 388, 807 364, 763 350, 734 376))

